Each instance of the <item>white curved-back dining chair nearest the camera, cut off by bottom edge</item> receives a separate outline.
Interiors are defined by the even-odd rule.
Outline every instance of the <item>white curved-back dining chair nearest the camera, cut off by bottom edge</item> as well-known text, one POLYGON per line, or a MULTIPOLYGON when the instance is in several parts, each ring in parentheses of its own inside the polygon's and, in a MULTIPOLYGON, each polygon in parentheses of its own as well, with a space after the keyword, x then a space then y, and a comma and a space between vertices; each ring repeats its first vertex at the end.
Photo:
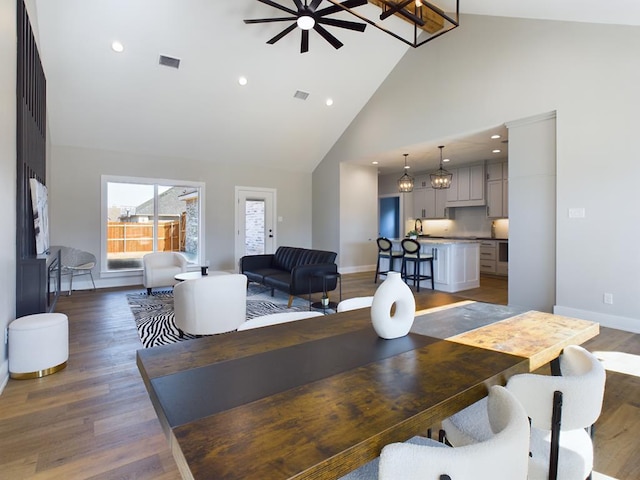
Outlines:
POLYGON ((450 448, 414 437, 392 443, 380 457, 341 480, 526 480, 529 421, 522 405, 506 388, 495 385, 485 403, 492 434, 485 441, 450 448), (493 433, 495 432, 495 433, 493 433))

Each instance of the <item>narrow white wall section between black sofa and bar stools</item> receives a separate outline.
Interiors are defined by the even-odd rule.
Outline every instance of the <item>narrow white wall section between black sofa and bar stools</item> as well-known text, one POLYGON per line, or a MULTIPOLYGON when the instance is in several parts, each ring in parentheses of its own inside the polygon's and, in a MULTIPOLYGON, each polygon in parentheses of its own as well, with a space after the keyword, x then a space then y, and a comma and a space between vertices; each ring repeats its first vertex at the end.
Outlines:
POLYGON ((340 204, 340 271, 353 273, 375 268, 378 251, 376 169, 341 164, 340 204))

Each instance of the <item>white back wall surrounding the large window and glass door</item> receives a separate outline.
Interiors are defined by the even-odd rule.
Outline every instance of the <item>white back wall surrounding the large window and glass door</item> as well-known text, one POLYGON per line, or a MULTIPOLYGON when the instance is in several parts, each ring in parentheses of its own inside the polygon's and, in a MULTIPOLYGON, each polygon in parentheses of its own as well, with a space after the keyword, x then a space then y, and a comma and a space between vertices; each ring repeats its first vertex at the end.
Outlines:
MULTIPOLYGON (((311 175, 308 173, 261 166, 237 169, 233 164, 209 160, 74 147, 53 147, 51 156, 49 203, 52 245, 68 245, 99 256, 101 176, 121 175, 205 182, 205 258, 210 260, 212 269, 236 268, 234 188, 237 185, 275 188, 277 215, 283 220, 276 225, 277 244, 311 246, 311 175)), ((99 279, 96 283, 110 286, 141 282, 140 278, 129 280, 99 279)), ((85 280, 85 284, 80 282, 82 277, 78 279, 78 288, 90 285, 90 280, 85 280)))

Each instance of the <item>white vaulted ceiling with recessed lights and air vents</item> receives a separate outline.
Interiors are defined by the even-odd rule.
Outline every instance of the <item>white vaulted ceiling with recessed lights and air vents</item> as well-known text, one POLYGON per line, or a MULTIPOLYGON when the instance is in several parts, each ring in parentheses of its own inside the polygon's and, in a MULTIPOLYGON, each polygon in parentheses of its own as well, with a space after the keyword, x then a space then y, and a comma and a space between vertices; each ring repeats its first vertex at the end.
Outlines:
MULTIPOLYGON (((292 0, 275 1, 295 9, 292 0)), ((300 54, 298 29, 269 45, 286 23, 243 20, 284 12, 257 0, 29 3, 54 146, 311 172, 410 48, 371 26, 326 26, 344 43, 339 50, 312 31, 300 54), (112 50, 114 40, 123 52, 112 50), (179 59, 179 68, 159 65, 160 55, 179 59)), ((460 11, 459 28, 464 14, 640 24, 636 0, 460 0, 460 11)), ((477 143, 459 140, 467 150, 477 143)))

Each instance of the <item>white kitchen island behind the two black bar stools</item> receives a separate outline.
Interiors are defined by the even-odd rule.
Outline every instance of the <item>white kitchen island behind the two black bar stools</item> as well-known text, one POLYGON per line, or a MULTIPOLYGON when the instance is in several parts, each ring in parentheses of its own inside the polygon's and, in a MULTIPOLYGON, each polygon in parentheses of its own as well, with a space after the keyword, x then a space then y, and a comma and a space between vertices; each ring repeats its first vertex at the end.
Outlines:
MULTIPOLYGON (((394 251, 402 251, 403 239, 391 239, 394 251)), ((480 241, 475 239, 420 237, 420 252, 433 255, 435 290, 455 293, 480 286, 480 241)), ((386 267, 386 265, 384 265, 386 267)), ((395 267, 399 269, 398 262, 395 267)), ((409 265, 409 273, 411 268, 409 265)), ((382 269, 382 266, 381 266, 382 269)), ((421 272, 429 275, 429 265, 422 263, 421 272)), ((420 288, 431 288, 431 280, 423 280, 420 288)))

